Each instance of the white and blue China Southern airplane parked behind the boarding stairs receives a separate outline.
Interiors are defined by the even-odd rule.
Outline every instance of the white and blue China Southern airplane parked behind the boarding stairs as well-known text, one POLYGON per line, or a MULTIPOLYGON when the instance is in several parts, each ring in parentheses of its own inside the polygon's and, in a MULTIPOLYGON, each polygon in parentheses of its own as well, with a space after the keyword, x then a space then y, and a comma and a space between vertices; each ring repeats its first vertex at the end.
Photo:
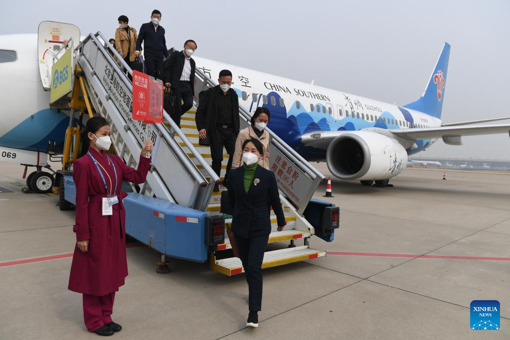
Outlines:
MULTIPOLYGON (((79 30, 75 40, 80 40, 79 30)), ((51 190, 52 174, 40 170, 48 167, 48 151, 62 153, 69 121, 68 111, 49 108, 49 92, 43 89, 48 86, 44 83, 48 71, 41 60, 41 51, 45 51, 38 48, 41 43, 37 34, 0 36, 0 72, 9 80, 0 88, 0 161, 36 166, 38 171, 30 174, 38 176, 30 181, 35 182, 36 192, 51 190)), ((55 53, 58 48, 47 50, 55 53)), ((231 70, 240 106, 250 113, 258 106, 268 108, 268 128, 305 159, 326 161, 331 174, 340 179, 359 180, 362 185, 375 181, 384 187, 404 170, 409 155, 439 138, 446 144, 462 145, 461 136, 510 133, 510 124, 481 124, 510 117, 443 123, 449 54, 450 45, 445 43, 425 91, 404 106, 201 57, 193 59, 197 70, 213 80, 220 70, 231 70)))

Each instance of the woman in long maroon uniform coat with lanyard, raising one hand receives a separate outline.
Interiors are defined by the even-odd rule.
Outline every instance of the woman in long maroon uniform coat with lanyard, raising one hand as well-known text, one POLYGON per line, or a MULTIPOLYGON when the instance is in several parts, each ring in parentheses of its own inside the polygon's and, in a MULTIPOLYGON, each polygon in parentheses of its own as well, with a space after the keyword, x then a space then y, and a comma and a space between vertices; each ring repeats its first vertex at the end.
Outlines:
POLYGON ((112 335, 121 326, 112 321, 115 292, 127 276, 125 211, 122 180, 141 184, 150 168, 146 142, 140 154, 138 170, 130 168, 113 154, 110 126, 106 119, 87 121, 82 135, 88 152, 74 162, 72 177, 76 185, 77 245, 72 257, 69 290, 83 294, 85 326, 99 335, 112 335))

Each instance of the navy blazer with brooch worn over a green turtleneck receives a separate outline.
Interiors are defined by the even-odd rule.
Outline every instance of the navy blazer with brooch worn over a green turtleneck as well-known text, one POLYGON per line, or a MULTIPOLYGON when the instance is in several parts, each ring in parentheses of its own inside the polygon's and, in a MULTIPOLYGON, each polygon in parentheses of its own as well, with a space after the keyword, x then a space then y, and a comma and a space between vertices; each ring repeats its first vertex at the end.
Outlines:
POLYGON ((228 201, 232 206, 231 230, 235 236, 247 239, 252 236, 269 235, 270 206, 276 214, 278 226, 286 224, 274 173, 261 166, 255 170, 248 193, 244 191, 244 167, 230 171, 228 201), (254 185, 257 178, 259 182, 254 185))

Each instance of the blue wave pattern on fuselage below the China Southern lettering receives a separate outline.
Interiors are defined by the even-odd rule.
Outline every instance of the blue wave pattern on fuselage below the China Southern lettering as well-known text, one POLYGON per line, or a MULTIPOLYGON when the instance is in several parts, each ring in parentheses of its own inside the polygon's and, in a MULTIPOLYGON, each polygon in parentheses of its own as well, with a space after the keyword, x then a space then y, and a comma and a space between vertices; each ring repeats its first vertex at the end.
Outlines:
MULTIPOLYGON (((241 97, 241 91, 236 89, 236 92, 238 93, 238 96, 241 97)), ((283 107, 280 106, 279 100, 281 96, 277 92, 269 92, 266 96, 267 103, 262 104, 262 107, 269 109, 269 112, 271 113, 271 119, 268 127, 293 149, 312 161, 325 159, 326 150, 320 150, 315 147, 307 147, 302 144, 301 135, 303 134, 314 131, 356 131, 367 127, 379 127, 384 129, 400 128, 400 126, 396 123, 387 124, 384 123, 384 120, 382 122, 371 122, 362 119, 361 117, 358 118, 357 114, 354 114, 354 117, 352 117, 352 114, 349 114, 348 116, 344 115, 341 119, 336 120, 329 114, 327 107, 325 110, 326 113, 323 113, 324 105, 321 103, 315 104, 314 111, 308 111, 304 108, 301 102, 299 102, 300 108, 298 109, 297 102, 294 101, 292 107, 287 110, 285 105, 283 107), (271 100, 271 97, 273 96, 275 98, 274 105, 271 100), (317 107, 320 109, 320 112, 317 111, 317 107)), ((262 95, 259 96, 258 106, 261 102, 261 98, 262 95)), ((411 113, 404 108, 399 107, 399 110, 402 112, 405 120, 410 123, 410 126, 413 126, 414 119, 411 113)), ((384 111, 377 116, 386 118, 387 122, 391 122, 392 119, 396 122, 395 116, 388 111, 384 111)), ((431 140, 418 140, 415 144, 417 146, 416 148, 407 150, 409 154, 415 154, 424 150, 431 144, 431 140)))

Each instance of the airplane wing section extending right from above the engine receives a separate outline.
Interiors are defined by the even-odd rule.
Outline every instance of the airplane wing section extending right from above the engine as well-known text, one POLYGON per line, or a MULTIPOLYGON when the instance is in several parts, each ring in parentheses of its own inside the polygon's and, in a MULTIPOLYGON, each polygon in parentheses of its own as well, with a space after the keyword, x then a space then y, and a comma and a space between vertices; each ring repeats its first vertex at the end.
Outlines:
POLYGON ((457 125, 440 127, 419 127, 405 129, 390 129, 392 134, 409 140, 428 138, 450 138, 461 136, 510 134, 510 124, 500 125, 457 125))

